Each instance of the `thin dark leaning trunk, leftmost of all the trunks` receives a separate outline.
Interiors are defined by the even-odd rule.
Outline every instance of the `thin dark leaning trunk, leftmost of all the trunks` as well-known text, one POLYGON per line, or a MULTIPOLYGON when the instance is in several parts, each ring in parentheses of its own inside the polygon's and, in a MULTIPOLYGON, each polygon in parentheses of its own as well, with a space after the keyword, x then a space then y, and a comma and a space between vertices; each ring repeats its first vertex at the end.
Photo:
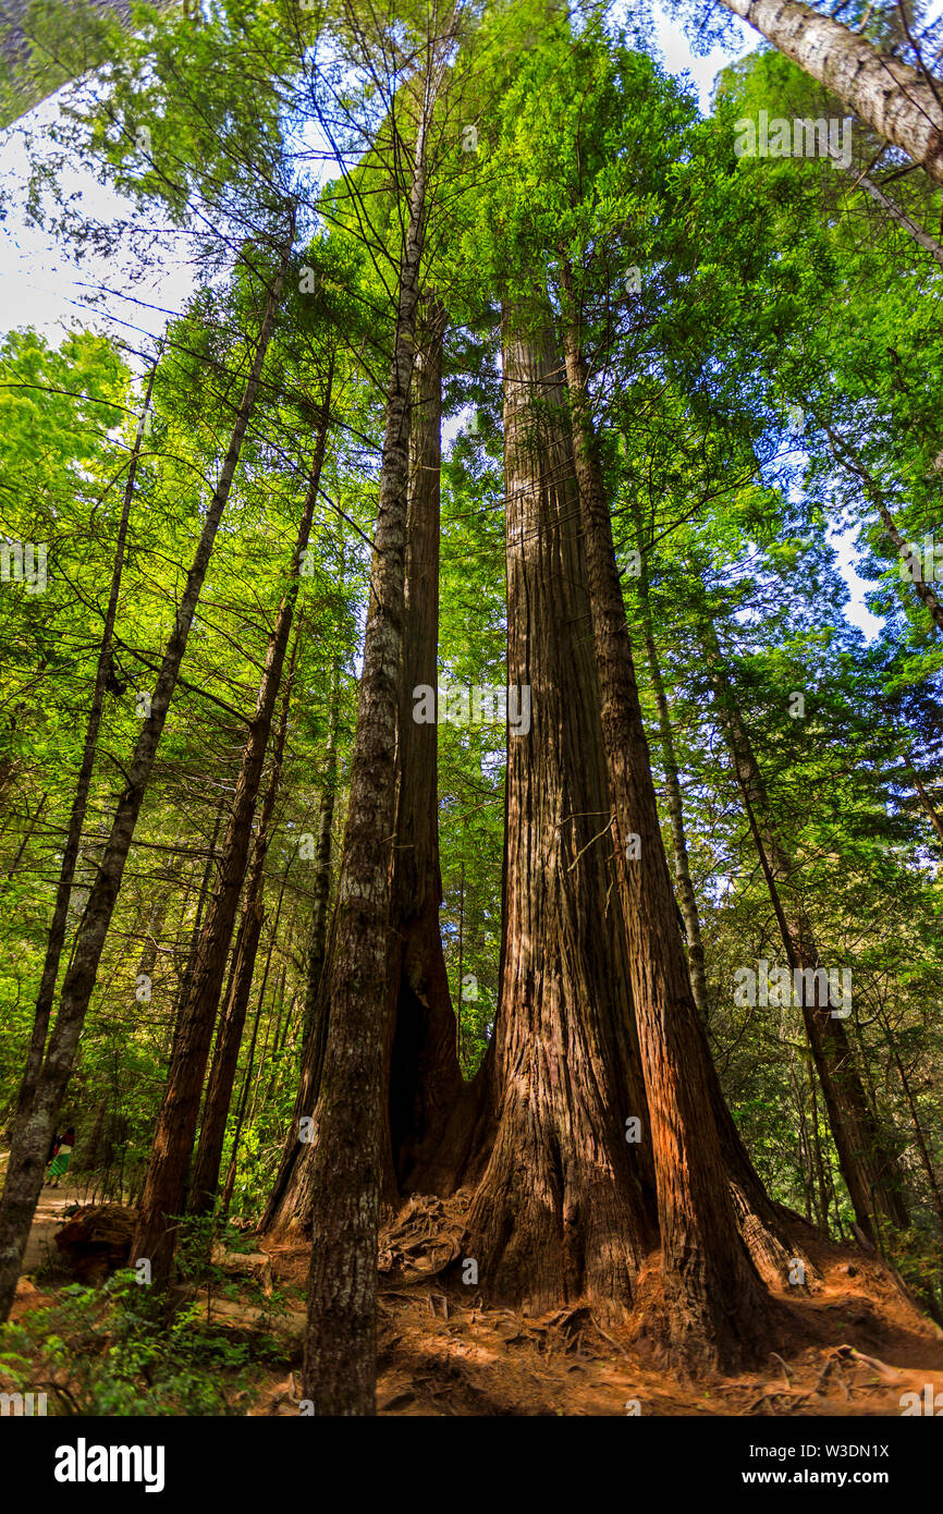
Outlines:
POLYGON ((36 1087, 36 1078, 39 1076, 39 1067, 42 1066, 45 1037, 48 1036, 48 1020, 53 1010, 53 999, 56 995, 56 978, 59 977, 59 963, 62 960, 62 946, 65 943, 68 905, 73 892, 73 881, 76 877, 79 848, 82 845, 82 827, 85 825, 85 815, 88 810, 88 793, 95 766, 95 752, 98 748, 98 730, 101 727, 101 712, 104 709, 104 692, 109 674, 112 671, 112 645, 115 633, 115 616, 118 613, 118 593, 121 590, 121 574, 124 571, 124 544, 127 540, 127 524, 130 518, 132 500, 135 497, 138 462, 141 459, 141 441, 144 438, 145 419, 150 412, 156 372, 157 372, 157 363, 154 362, 148 374, 147 392, 144 397, 144 410, 138 422, 138 435, 135 436, 135 445, 127 468, 127 480, 124 483, 124 500, 121 504, 121 518, 118 521, 118 537, 115 540, 115 565, 112 569, 112 583, 107 597, 107 609, 104 612, 104 627, 101 630, 101 648, 98 651, 98 666, 95 669, 92 704, 91 710, 88 712, 88 725, 85 728, 85 746, 82 749, 82 763, 79 766, 76 796, 73 799, 73 810, 68 821, 65 846, 62 849, 62 864, 59 868, 59 886, 56 889, 56 904, 53 907, 53 919, 48 928, 48 939, 45 943, 45 961, 42 963, 39 993, 36 995, 36 1014, 33 1019, 33 1034, 17 1101, 17 1123, 14 1126, 14 1137, 12 1137, 14 1145, 17 1145, 20 1139, 23 1122, 29 1114, 32 1105, 33 1090, 36 1087))

